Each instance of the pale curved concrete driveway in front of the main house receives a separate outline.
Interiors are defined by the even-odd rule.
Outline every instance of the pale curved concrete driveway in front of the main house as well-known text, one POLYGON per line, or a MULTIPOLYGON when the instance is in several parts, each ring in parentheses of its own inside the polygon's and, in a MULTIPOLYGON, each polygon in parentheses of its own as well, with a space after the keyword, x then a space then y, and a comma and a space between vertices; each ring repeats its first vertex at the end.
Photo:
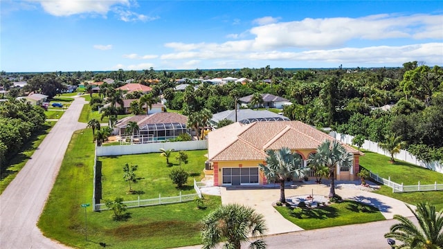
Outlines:
MULTIPOLYGON (((287 187, 285 190, 286 198, 297 195, 320 194, 327 196, 329 194, 329 186, 323 184, 302 184, 296 188, 287 187)), ((348 188, 336 189, 336 194, 344 199, 353 199, 373 205, 381 211, 386 219, 392 219, 394 214, 403 216, 412 216, 406 205, 397 199, 388 196, 375 194, 373 192, 354 190, 348 188)), ((296 232, 303 230, 293 223, 284 219, 272 206, 272 203, 280 199, 279 188, 260 187, 260 189, 244 190, 241 188, 221 188, 221 203, 239 203, 248 205, 255 209, 256 212, 264 215, 266 225, 268 226, 267 234, 281 234, 287 232, 296 232)))

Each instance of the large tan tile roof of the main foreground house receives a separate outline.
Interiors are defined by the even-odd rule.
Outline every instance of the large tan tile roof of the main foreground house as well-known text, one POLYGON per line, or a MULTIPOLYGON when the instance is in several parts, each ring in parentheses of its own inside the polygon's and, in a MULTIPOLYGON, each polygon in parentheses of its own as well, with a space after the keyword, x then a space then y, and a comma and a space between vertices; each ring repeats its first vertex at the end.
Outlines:
MULTIPOLYGON (((316 149, 332 136, 300 121, 234 123, 212 131, 208 135, 209 160, 263 160, 266 149, 316 149), (221 139, 222 137, 225 139, 221 139)), ((343 144, 352 154, 358 150, 343 144)))

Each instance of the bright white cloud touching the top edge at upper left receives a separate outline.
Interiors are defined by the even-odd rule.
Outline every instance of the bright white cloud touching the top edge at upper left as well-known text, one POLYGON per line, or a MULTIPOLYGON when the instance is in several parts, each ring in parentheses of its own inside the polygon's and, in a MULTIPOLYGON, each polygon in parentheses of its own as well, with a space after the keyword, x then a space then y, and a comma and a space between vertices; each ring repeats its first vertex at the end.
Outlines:
POLYGON ((107 14, 111 6, 129 6, 129 0, 30 0, 39 2, 44 10, 57 17, 76 15, 81 13, 107 14))

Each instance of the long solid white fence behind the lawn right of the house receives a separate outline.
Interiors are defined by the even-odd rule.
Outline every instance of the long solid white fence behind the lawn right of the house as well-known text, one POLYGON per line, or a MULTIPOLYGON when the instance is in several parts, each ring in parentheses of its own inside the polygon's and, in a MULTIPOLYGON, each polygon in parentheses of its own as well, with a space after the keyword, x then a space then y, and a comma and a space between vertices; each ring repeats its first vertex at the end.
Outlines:
MULTIPOLYGON (((336 133, 335 131, 332 131, 331 133, 329 133, 329 135, 332 136, 333 138, 336 138, 337 140, 340 140, 341 142, 344 142, 347 145, 352 145, 352 138, 354 138, 354 136, 336 133)), ((386 151, 383 151, 383 149, 381 149, 379 147, 377 142, 365 140, 365 142, 363 143, 363 145, 361 147, 365 150, 368 150, 368 151, 372 151, 372 152, 375 152, 378 154, 383 154, 385 156, 390 156, 390 154, 386 153, 386 151)), ((442 163, 436 162, 436 161, 424 162, 422 160, 418 160, 415 156, 413 156, 412 154, 409 154, 409 152, 404 149, 401 149, 399 154, 395 154, 394 158, 398 159, 398 160, 404 160, 408 163, 412 163, 412 164, 419 165, 422 167, 426 167, 427 169, 431 169, 435 172, 439 172, 439 173, 443 174, 443 164, 442 163)))

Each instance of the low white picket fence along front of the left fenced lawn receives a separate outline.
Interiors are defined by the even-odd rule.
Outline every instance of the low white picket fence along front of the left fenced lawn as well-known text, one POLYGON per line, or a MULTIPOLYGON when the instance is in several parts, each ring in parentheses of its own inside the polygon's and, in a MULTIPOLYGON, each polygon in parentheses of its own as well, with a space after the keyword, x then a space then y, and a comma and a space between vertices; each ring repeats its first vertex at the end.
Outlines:
MULTIPOLYGON (((201 198, 201 191, 199 189, 199 185, 201 183, 194 180, 194 189, 196 190, 196 194, 179 194, 179 196, 170 196, 170 197, 161 197, 161 194, 159 194, 159 198, 154 199, 145 199, 141 200, 140 196, 138 196, 138 199, 136 201, 123 201, 122 203, 126 205, 126 208, 138 208, 138 207, 145 207, 150 205, 161 205, 161 204, 169 204, 169 203, 181 203, 186 201, 194 201, 196 198, 201 198)), ((102 210, 108 210, 105 203, 96 204, 93 205, 94 211, 102 211, 102 210)))

